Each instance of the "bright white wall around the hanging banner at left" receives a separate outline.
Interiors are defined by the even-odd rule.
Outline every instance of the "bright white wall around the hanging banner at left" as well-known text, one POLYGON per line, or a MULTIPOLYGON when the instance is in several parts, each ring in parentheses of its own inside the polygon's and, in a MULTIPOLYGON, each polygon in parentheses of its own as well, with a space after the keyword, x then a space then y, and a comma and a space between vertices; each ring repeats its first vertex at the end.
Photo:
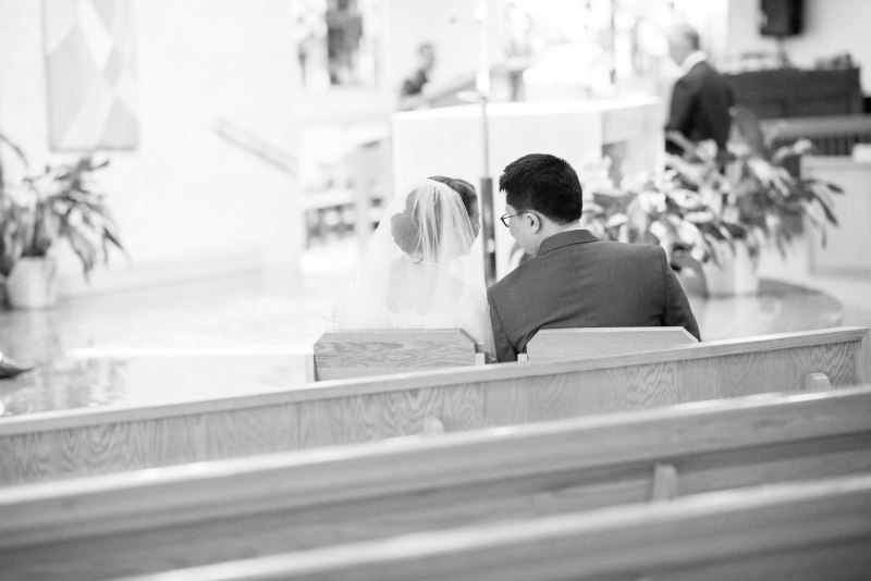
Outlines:
MULTIPOLYGON (((42 7, 0 0, 0 127, 35 161, 62 159, 48 151, 42 7)), ((286 0, 138 0, 134 18, 140 146, 106 152, 100 175, 133 270, 261 260, 295 270, 295 180, 214 132, 224 118, 294 152, 286 0)), ((71 259, 62 272, 81 279, 71 259)), ((131 270, 120 257, 110 269, 131 270)))

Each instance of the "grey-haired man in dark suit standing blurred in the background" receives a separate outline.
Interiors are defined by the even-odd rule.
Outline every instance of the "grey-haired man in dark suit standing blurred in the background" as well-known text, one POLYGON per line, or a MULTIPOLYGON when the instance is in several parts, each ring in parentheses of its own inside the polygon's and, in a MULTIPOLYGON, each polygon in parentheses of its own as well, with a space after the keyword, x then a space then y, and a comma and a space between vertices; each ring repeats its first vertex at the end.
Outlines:
POLYGON ((665 150, 683 154, 696 144, 713 139, 721 154, 726 151, 735 96, 726 79, 708 63, 699 48, 699 34, 688 25, 677 25, 666 33, 668 54, 683 71, 672 91, 668 122, 665 124, 665 150))

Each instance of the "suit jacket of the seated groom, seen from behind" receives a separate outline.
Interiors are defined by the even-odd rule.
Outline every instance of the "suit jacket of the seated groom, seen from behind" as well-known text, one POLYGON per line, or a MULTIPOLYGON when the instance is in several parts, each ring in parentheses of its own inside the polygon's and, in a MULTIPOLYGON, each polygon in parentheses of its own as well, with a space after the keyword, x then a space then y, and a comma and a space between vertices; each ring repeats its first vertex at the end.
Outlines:
POLYGON ((499 361, 516 361, 539 329, 683 326, 700 338, 661 247, 601 240, 586 230, 547 238, 487 299, 499 361))

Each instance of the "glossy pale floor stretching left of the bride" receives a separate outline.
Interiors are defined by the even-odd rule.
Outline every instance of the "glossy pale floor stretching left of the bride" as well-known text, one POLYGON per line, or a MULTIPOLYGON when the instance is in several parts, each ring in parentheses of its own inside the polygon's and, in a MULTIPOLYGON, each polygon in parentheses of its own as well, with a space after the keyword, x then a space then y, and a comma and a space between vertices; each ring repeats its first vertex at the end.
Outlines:
POLYGON ((304 353, 329 325, 355 252, 308 252, 305 276, 258 274, 0 311, 0 346, 37 363, 0 382, 5 415, 220 397, 305 381, 304 353))

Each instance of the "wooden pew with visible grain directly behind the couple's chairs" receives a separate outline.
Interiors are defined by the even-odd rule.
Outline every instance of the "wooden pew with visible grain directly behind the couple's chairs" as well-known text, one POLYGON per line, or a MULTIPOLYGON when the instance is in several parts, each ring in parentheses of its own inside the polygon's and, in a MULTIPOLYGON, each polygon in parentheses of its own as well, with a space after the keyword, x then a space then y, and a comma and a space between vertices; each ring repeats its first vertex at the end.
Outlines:
POLYGON ((107 407, 0 421, 0 483, 24 483, 529 423, 771 391, 871 381, 869 330, 837 327, 702 342, 559 363, 499 363, 318 382, 184 404, 107 407), (813 375, 822 374, 822 375, 813 375))

